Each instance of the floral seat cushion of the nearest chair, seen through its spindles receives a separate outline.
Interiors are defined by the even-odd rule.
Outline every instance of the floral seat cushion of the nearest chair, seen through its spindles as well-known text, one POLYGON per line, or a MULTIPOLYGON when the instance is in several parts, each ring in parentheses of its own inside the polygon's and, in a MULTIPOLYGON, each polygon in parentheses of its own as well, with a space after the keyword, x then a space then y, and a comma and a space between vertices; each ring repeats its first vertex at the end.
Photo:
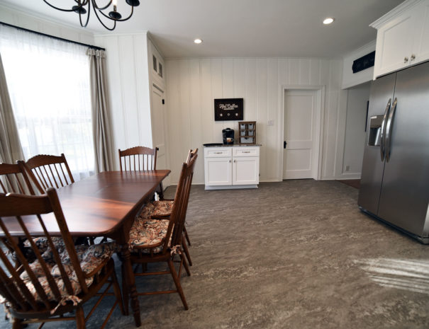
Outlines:
MULTIPOLYGON (((69 254, 67 253, 67 250, 65 249, 65 244, 62 241, 57 241, 56 249, 60 255, 60 259, 62 262, 62 265, 65 268, 65 272, 67 273, 67 276, 70 279, 70 282, 72 283, 72 289, 74 295, 79 294, 82 289, 79 284, 79 280, 77 279, 77 275, 73 270, 72 262, 69 259, 69 254)), ((77 257, 80 262, 80 266, 82 267, 82 271, 85 275, 85 282, 87 285, 91 285, 94 281, 94 275, 96 272, 98 272, 101 267, 106 264, 106 262, 111 258, 114 252, 116 252, 116 244, 113 242, 110 243, 100 243, 92 246, 75 246, 77 251, 77 257)), ((52 250, 48 247, 48 249, 43 253, 42 255, 43 259, 46 261, 48 265, 48 270, 50 271, 50 274, 55 279, 55 282, 57 284, 57 287, 60 289, 60 294, 62 297, 68 296, 67 289, 65 287, 65 284, 62 280, 60 268, 58 265, 56 265, 52 250)), ((34 271, 36 277, 38 278, 40 285, 43 287, 43 290, 45 291, 45 294, 48 296, 48 299, 50 301, 57 301, 55 299, 55 295, 52 293, 48 279, 45 275, 45 272, 43 271, 43 267, 40 265, 40 262, 38 260, 35 260, 34 262, 30 263, 30 268, 34 271)), ((21 279, 23 279, 23 282, 26 284, 28 290, 31 294, 35 297, 36 300, 40 300, 40 296, 35 290, 35 287, 33 283, 30 280, 30 277, 28 276, 28 273, 24 271, 20 275, 21 279)))

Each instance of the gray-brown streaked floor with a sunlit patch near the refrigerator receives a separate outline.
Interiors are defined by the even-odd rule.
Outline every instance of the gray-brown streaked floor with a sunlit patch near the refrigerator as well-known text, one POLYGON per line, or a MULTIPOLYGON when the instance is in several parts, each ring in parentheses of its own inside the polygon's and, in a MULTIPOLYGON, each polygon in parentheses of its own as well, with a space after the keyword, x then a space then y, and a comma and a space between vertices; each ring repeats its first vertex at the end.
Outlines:
MULTIPOLYGON (((335 181, 194 186, 187 226, 194 266, 182 277, 189 311, 177 294, 142 296, 142 328, 428 328, 429 246, 356 203, 357 190, 335 181)), ((147 287, 172 280, 139 278, 138 289, 147 287)), ((87 328, 99 328, 106 308, 87 328)), ((135 327, 115 311, 108 328, 135 327)))

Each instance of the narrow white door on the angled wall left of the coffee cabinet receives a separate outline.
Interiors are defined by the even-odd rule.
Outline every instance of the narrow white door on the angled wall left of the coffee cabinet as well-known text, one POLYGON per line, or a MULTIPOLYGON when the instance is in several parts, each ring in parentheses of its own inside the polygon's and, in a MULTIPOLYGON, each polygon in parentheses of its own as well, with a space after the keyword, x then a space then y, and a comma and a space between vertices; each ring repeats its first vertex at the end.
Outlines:
MULTIPOLYGON (((152 144, 157 147, 157 169, 167 168, 165 151, 165 108, 162 104, 164 92, 152 86, 152 144)), ((169 186, 169 176, 163 180, 164 187, 169 186)))

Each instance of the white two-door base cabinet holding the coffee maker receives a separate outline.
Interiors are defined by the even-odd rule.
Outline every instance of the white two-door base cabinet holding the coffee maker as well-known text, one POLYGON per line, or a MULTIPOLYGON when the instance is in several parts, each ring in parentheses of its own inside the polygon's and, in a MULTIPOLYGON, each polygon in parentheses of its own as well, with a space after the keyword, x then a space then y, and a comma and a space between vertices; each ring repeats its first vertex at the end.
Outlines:
POLYGON ((259 173, 259 146, 204 148, 206 190, 257 187, 259 173))

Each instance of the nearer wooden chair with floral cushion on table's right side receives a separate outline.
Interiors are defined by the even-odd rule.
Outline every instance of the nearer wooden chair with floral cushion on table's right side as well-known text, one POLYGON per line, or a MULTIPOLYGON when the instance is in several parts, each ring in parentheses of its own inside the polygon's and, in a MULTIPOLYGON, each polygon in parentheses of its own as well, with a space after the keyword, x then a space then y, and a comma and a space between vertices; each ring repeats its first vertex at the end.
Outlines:
MULTIPOLYGON (((167 262, 168 270, 157 272, 135 273, 135 276, 172 275, 176 289, 157 292, 138 292, 139 296, 152 294, 172 294, 177 292, 182 299, 185 310, 188 309, 186 298, 180 284, 182 266, 188 275, 189 267, 182 254, 183 226, 186 212, 186 193, 190 188, 196 157, 189 164, 183 163, 182 171, 177 185, 175 202, 169 219, 142 219, 137 218, 130 230, 129 245, 131 249, 130 260, 135 265, 147 265, 152 262, 167 262), (174 266, 174 257, 179 255, 179 273, 174 266)), ((128 308, 128 290, 123 285, 125 307, 128 308)))

